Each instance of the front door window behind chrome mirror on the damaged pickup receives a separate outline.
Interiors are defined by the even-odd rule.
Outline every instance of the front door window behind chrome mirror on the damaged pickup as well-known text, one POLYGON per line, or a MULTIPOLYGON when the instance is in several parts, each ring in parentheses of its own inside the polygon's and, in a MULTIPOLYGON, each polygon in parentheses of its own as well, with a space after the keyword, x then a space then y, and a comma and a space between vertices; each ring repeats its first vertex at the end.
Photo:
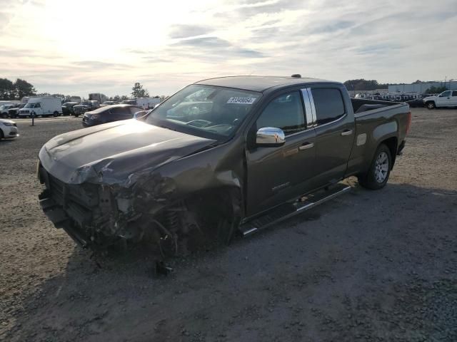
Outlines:
POLYGON ((279 95, 258 117, 257 130, 263 127, 281 128, 285 135, 306 129, 305 115, 298 91, 279 95))

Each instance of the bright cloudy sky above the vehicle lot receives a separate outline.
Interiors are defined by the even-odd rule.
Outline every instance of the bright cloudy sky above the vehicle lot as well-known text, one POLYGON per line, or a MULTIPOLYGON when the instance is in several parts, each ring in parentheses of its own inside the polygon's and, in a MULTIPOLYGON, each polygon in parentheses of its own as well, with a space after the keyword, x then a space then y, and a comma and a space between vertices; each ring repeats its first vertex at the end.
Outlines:
POLYGON ((204 78, 457 79, 456 0, 0 0, 0 78, 171 95, 204 78))

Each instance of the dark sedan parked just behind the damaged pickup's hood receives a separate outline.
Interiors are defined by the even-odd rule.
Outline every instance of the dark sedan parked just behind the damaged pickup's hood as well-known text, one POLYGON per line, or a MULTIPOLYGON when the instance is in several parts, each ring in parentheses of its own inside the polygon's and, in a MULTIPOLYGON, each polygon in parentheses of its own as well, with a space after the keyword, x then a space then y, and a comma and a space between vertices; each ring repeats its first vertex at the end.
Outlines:
POLYGON ((83 126, 89 127, 113 121, 134 118, 134 114, 141 110, 134 105, 106 105, 105 107, 84 113, 83 126))

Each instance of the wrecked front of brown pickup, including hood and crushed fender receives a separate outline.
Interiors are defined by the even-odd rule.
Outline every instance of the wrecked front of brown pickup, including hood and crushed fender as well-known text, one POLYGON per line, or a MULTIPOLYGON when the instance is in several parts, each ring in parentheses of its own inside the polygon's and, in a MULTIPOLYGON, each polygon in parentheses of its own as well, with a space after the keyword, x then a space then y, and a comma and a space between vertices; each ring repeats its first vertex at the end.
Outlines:
POLYGON ((237 150, 215 142, 130 120, 58 135, 39 152, 41 207, 91 249, 151 242, 181 254, 203 226, 229 232, 228 241, 243 166, 237 150))

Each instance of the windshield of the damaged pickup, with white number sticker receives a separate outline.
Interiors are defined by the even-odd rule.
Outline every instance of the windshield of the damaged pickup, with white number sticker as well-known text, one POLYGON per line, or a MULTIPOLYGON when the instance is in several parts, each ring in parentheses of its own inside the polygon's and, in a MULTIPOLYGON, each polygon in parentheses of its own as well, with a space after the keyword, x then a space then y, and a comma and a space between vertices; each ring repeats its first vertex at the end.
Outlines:
POLYGON ((154 108, 145 121, 197 136, 227 137, 260 97, 253 91, 194 84, 154 108))

